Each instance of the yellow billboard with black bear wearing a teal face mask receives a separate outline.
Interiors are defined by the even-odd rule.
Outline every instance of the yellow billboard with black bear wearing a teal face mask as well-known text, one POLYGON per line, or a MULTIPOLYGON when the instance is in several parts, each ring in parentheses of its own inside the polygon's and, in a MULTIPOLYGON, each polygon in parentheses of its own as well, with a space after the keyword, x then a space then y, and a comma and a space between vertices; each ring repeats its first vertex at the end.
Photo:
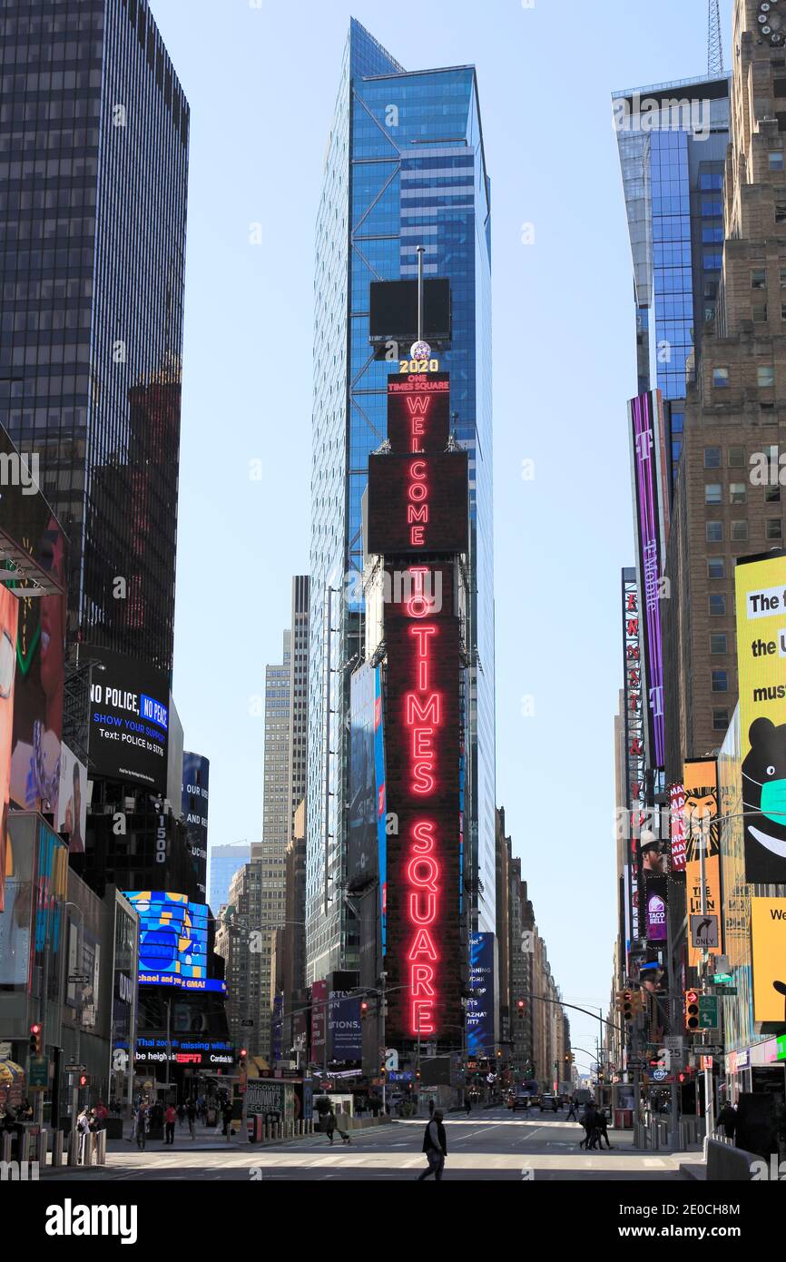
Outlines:
POLYGON ((737 671, 746 880, 786 882, 786 553, 739 557, 737 671))

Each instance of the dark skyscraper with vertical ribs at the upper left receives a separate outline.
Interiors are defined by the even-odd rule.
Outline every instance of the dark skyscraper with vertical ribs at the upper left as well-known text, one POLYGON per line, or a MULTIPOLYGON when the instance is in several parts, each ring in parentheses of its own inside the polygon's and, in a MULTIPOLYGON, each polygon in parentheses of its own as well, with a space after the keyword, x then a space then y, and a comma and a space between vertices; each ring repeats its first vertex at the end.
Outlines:
POLYGON ((188 103, 146 0, 0 0, 0 423, 69 538, 69 645, 170 671, 188 103))

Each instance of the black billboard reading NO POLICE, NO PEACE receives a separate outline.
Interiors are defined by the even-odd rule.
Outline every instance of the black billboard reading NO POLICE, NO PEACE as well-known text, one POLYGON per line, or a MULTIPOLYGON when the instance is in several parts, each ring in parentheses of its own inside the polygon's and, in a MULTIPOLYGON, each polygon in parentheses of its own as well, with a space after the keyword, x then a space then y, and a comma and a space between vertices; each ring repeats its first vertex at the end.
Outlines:
POLYGON ((169 680, 135 658, 86 646, 91 675, 90 766, 110 780, 167 793, 169 680), (102 670, 98 668, 103 668, 102 670))

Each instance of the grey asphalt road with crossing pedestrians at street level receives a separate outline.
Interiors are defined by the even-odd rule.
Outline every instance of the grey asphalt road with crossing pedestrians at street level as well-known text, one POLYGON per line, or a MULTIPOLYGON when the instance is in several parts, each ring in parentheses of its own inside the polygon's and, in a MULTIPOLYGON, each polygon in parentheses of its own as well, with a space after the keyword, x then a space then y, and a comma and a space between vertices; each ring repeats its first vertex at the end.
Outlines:
MULTIPOLYGON (((425 1169, 421 1152, 425 1118, 358 1131, 352 1143, 338 1136, 333 1147, 324 1135, 267 1147, 227 1151, 148 1150, 112 1152, 107 1167, 69 1175, 82 1180, 414 1180, 425 1169)), ((578 1142, 583 1131, 565 1114, 525 1118, 508 1109, 478 1109, 471 1117, 449 1114, 445 1122, 448 1161, 445 1180, 671 1180, 681 1181, 685 1155, 638 1153, 630 1142, 612 1151, 585 1153, 578 1142), (455 1119, 454 1119, 455 1117, 455 1119)), ((694 1155, 695 1160, 695 1155, 694 1155)), ((61 1180, 64 1176, 54 1176, 61 1180)), ((433 1180, 430 1180, 433 1181, 433 1180)))

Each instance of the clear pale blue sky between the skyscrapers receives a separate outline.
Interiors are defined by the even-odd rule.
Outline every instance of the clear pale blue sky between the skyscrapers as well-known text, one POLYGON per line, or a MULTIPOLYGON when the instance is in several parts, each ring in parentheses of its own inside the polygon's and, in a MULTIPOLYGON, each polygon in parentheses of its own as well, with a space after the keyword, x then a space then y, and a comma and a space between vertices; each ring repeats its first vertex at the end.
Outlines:
MULTIPOLYGON (((185 747, 211 760, 211 846, 261 834, 265 664, 280 661, 291 575, 308 573, 314 225, 356 16, 406 69, 477 66, 492 180, 497 800, 564 1000, 606 1015, 636 390, 609 93, 705 73, 707 4, 150 8, 191 103, 174 697, 185 747)), ((585 1070, 598 1022, 569 1016, 585 1070)))

